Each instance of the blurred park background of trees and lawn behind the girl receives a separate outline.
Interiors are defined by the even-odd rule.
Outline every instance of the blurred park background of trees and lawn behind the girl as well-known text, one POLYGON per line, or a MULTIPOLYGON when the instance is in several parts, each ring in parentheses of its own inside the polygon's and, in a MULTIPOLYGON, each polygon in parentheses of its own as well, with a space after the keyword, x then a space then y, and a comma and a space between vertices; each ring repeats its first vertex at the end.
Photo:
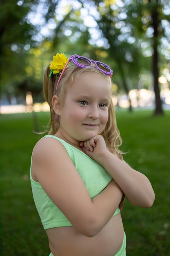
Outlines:
POLYGON ((125 201, 128 256, 170 256, 170 2, 11 0, 0 4, 0 255, 49 255, 29 180, 57 52, 108 63, 124 159, 151 181, 150 209, 125 201))

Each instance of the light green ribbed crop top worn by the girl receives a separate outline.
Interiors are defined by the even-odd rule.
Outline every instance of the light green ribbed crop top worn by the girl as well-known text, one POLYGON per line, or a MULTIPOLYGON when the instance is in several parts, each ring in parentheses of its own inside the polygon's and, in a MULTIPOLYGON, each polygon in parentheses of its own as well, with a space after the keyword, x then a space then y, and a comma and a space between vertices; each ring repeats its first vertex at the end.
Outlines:
MULTIPOLYGON (((68 144, 66 141, 53 135, 46 135, 44 137, 55 138, 63 144, 69 157, 73 161, 75 168, 79 172, 79 175, 81 176, 91 198, 94 198, 96 195, 102 192, 102 190, 112 180, 112 177, 101 165, 88 157, 88 155, 83 153, 78 148, 75 148, 74 146, 68 144)), ((72 224, 68 221, 62 211, 57 208, 57 206, 52 202, 49 196, 42 189, 40 183, 33 180, 31 176, 31 168, 30 179, 33 199, 40 215, 44 229, 72 226, 72 224)), ((119 212, 120 209, 118 207, 113 216, 115 216, 119 212)))

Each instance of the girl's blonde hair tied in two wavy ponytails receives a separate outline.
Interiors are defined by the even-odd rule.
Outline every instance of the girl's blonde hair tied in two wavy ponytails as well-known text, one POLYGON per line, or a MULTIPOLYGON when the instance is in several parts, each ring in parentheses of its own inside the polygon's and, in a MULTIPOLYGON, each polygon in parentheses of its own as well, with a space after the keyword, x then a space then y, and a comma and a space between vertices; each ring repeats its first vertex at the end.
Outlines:
POLYGON ((49 121, 49 127, 45 132, 48 132, 50 135, 54 135, 60 128, 60 121, 57 119, 57 115, 53 110, 53 106, 51 103, 53 96, 57 94, 57 96, 59 97, 60 106, 63 106, 66 91, 68 90, 68 88, 70 88, 73 85, 75 79, 77 79, 82 73, 85 73, 85 72, 87 73, 93 72, 95 74, 99 74, 110 85, 110 105, 108 108, 109 117, 108 117, 108 122, 104 130, 102 131, 101 135, 104 137, 106 146, 111 150, 111 152, 114 155, 117 155, 119 159, 123 160, 122 152, 119 150, 119 146, 121 146, 122 144, 122 139, 120 136, 120 132, 117 128, 115 109, 114 109, 113 101, 111 98, 112 82, 111 82, 110 76, 104 74, 103 72, 99 71, 95 67, 80 68, 75 65, 67 67, 62 75, 62 78, 57 88, 57 92, 56 92, 56 84, 59 77, 56 74, 52 74, 51 78, 49 78, 49 74, 50 74, 49 66, 46 67, 46 70, 44 73, 43 92, 44 92, 44 97, 50 106, 51 119, 49 121))

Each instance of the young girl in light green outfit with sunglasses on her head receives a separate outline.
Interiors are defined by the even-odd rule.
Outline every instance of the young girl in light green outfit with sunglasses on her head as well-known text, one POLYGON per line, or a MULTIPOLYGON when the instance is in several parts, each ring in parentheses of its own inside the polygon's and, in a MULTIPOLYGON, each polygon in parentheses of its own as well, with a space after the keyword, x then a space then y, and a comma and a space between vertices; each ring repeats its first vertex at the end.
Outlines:
POLYGON ((57 54, 46 68, 51 130, 33 149, 31 186, 51 256, 126 256, 124 196, 139 207, 154 202, 147 177, 119 150, 112 74, 77 55, 57 54))

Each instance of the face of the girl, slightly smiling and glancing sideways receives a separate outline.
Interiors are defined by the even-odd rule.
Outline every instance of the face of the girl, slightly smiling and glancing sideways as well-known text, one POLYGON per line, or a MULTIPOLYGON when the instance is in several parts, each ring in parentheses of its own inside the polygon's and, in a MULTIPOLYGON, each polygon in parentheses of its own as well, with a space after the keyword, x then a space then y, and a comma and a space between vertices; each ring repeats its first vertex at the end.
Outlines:
POLYGON ((66 92, 60 133, 74 144, 99 135, 108 121, 110 87, 99 74, 83 73, 66 92))

